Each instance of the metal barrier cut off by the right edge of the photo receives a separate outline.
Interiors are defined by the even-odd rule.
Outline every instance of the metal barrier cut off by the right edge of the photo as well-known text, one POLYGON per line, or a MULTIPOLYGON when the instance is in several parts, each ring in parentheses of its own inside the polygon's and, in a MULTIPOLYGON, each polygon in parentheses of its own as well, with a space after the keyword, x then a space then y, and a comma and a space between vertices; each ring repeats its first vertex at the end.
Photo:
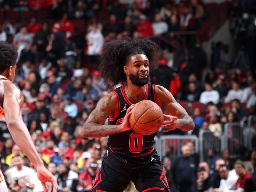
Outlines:
POLYGON ((249 116, 247 120, 247 147, 249 150, 256 147, 256 116, 249 116))

